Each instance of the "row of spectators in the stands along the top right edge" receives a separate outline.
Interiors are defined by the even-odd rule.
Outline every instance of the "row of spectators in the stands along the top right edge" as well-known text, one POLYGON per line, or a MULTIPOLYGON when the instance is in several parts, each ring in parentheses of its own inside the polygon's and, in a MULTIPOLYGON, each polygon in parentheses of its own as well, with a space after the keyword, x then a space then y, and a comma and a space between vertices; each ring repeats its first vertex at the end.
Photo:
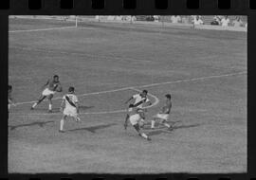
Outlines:
MULTIPOLYGON (((96 19, 100 20, 100 16, 96 16, 96 19)), ((247 21, 243 21, 241 16, 201 16, 201 15, 172 15, 172 16, 160 16, 160 15, 119 15, 119 16, 107 16, 106 20, 111 21, 154 21, 154 22, 169 22, 174 24, 193 24, 198 25, 213 25, 222 27, 247 27, 247 21), (212 18, 212 19, 211 19, 212 18), (209 22, 210 21, 210 22, 209 22)))

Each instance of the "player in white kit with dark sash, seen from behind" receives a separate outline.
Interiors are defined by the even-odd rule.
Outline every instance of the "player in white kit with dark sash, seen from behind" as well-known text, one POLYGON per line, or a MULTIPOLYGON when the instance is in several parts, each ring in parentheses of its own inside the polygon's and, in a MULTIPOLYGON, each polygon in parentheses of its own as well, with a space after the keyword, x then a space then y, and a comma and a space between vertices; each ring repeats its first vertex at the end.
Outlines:
POLYGON ((61 104, 61 112, 63 112, 63 118, 60 121, 60 133, 64 133, 64 120, 66 120, 66 117, 73 117, 76 122, 80 122, 81 119, 78 117, 79 114, 79 104, 78 104, 78 98, 75 95, 75 88, 69 87, 68 93, 64 95, 63 101, 61 104))

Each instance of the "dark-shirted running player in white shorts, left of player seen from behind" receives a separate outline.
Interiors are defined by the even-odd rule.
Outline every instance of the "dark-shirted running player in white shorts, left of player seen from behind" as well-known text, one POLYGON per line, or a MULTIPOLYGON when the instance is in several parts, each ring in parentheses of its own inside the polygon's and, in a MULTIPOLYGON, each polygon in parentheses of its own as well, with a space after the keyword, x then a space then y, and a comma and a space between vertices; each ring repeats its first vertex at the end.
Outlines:
POLYGON ((53 95, 56 92, 62 92, 63 91, 63 87, 61 85, 61 82, 59 81, 59 76, 54 75, 52 79, 50 79, 46 82, 46 84, 43 86, 43 89, 44 89, 44 91, 42 92, 42 95, 39 97, 37 102, 35 102, 32 105, 31 110, 33 110, 40 102, 42 102, 44 99, 47 98, 49 100, 48 112, 52 113, 52 101, 51 101, 51 99, 53 98, 53 95))

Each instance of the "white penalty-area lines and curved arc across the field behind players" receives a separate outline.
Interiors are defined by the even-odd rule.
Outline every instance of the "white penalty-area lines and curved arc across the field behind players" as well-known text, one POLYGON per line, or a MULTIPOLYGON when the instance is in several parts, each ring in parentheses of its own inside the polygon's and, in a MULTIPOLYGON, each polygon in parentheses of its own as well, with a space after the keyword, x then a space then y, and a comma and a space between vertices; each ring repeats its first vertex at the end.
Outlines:
MULTIPOLYGON (((141 85, 141 86, 137 86, 137 87, 138 88, 144 88, 144 87, 158 86, 158 85, 164 85, 164 84, 174 84, 174 83, 181 83, 181 82, 204 81, 204 80, 209 80, 209 79, 216 79, 216 78, 222 78, 222 77, 231 77, 231 76, 237 76, 237 75, 243 75, 243 74, 247 74, 247 71, 238 72, 238 73, 223 74, 223 75, 216 75, 216 76, 201 77, 201 78, 193 78, 193 79, 180 80, 180 81, 166 81, 166 82, 159 82, 159 83, 151 83, 151 84, 141 85)), ((124 91, 124 90, 129 90, 129 89, 139 91, 135 87, 130 86, 130 87, 124 87, 124 88, 113 89, 113 90, 108 90, 108 91, 101 91, 101 92, 94 92, 94 93, 85 93, 85 94, 82 94, 82 95, 78 95, 78 97, 85 97, 85 96, 91 96, 91 95, 99 95, 99 94, 104 94, 104 93, 112 93, 112 92, 124 91)), ((150 106, 150 107, 153 107, 153 106, 155 106, 158 103, 159 99, 157 99, 152 94, 149 94, 149 95, 155 99, 155 103, 150 106)), ((59 97, 59 98, 55 98, 55 99, 62 99, 62 98, 59 97)), ((33 102, 35 102, 35 101, 17 102, 16 105, 33 103, 33 102)), ((126 110, 117 110, 117 111, 109 111, 109 112, 82 113, 82 115, 100 115, 100 114, 120 113, 120 112, 125 112, 125 111, 126 110)), ((54 114, 27 114, 27 115, 54 115, 54 114)))

